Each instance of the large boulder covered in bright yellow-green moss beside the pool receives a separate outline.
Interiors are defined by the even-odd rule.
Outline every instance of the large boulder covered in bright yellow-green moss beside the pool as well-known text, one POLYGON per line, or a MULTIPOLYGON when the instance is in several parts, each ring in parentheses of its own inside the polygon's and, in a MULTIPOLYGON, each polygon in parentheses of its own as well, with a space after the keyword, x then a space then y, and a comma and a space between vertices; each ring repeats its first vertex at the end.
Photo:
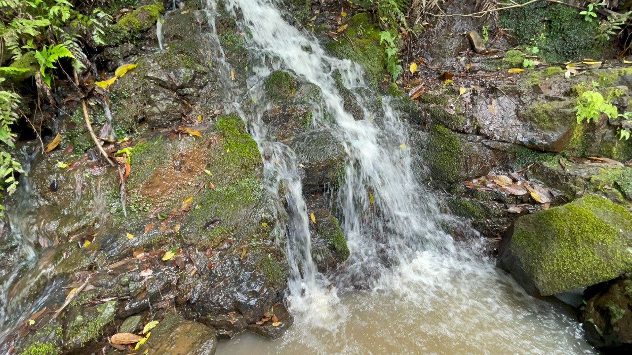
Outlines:
POLYGON ((596 195, 516 220, 501 264, 542 296, 632 272, 632 214, 596 195))

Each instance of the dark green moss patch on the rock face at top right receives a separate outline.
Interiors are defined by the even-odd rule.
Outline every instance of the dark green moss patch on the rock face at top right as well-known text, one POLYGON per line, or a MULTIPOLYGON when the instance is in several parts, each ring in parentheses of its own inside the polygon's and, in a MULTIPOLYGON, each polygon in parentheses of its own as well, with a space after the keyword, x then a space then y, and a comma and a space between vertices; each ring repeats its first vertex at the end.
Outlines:
POLYGON ((499 15, 500 27, 508 28, 520 45, 537 45, 538 55, 549 63, 599 57, 605 50, 604 41, 595 39, 599 21, 585 21, 569 6, 537 2, 499 15))

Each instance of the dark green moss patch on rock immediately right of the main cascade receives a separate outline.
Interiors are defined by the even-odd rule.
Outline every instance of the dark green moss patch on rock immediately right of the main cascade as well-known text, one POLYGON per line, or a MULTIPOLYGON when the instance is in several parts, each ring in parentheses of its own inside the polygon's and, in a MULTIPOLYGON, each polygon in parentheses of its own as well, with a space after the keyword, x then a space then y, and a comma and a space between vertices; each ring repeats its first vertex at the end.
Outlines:
POLYGON ((432 178, 454 183, 465 175, 461 167, 461 141, 458 136, 441 125, 430 128, 428 167, 432 178))

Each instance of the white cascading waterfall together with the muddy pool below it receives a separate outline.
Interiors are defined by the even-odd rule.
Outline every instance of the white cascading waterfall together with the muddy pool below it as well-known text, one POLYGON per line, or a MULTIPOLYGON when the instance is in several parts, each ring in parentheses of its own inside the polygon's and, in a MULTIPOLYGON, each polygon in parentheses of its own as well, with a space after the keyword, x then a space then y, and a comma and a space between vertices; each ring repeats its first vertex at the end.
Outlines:
POLYGON ((220 354, 597 353, 564 309, 526 295, 475 247, 457 245, 441 231, 437 223, 444 217, 413 169, 407 123, 386 97, 381 107, 370 109, 373 102, 361 94, 360 66, 328 56, 312 35, 284 20, 274 1, 224 3, 248 33, 253 73, 248 94, 255 102, 250 112, 241 111, 237 102, 244 93, 226 76, 230 68, 217 40, 215 0, 207 0, 209 57, 223 72, 226 110, 240 114, 257 140, 270 193, 284 188, 288 300, 296 321, 281 340, 245 334, 222 344, 220 354), (273 69, 320 88, 314 117, 331 126, 346 152, 346 176, 335 203, 351 256, 331 280, 318 274, 311 259, 295 155, 270 140, 262 121, 270 106, 260 83, 273 69), (363 108, 362 117, 344 109, 336 72, 363 108), (325 116, 333 121, 324 122, 325 116), (328 290, 329 282, 337 288, 328 290), (355 291, 357 286, 366 291, 355 291))

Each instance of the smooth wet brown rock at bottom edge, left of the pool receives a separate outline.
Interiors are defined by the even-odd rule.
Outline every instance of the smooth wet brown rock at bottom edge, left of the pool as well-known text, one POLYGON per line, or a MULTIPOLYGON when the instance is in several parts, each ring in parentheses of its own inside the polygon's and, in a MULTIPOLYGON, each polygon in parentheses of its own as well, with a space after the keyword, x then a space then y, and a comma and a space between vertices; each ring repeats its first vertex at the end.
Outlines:
POLYGON ((216 347, 215 330, 202 323, 168 314, 152 329, 152 334, 139 348, 139 352, 149 349, 149 354, 213 355, 216 347))

